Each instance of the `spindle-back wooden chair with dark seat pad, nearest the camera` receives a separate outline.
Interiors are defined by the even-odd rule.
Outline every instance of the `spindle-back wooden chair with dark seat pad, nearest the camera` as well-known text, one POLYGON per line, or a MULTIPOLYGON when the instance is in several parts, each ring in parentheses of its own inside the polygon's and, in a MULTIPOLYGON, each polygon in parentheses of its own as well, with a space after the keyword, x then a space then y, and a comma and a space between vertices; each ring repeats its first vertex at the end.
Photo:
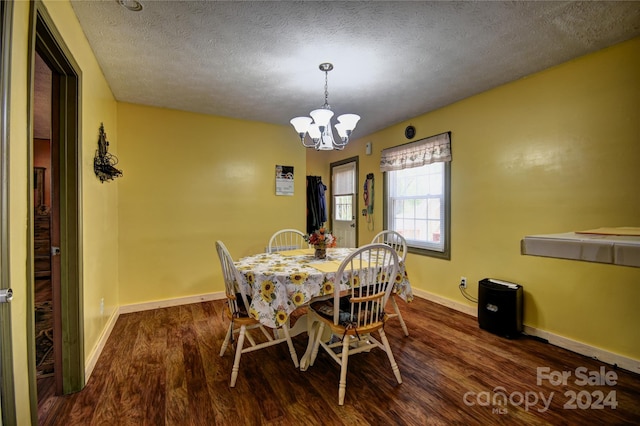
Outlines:
MULTIPOLYGON (((368 244, 350 254, 338 268, 332 299, 312 302, 311 320, 319 322, 311 352, 313 365, 320 346, 340 365, 338 404, 344 404, 347 389, 347 364, 351 355, 380 348, 386 352, 391 370, 398 383, 402 383, 400 370, 384 332, 387 315, 384 307, 393 289, 398 270, 398 255, 386 244, 368 244), (340 294, 340 284, 347 285, 346 294, 340 294), (342 297, 341 297, 342 296, 342 297), (333 338, 323 340, 326 327, 333 338), (380 340, 373 337, 377 332, 380 340)), ((361 361, 371 360, 362 356, 361 361)), ((381 390, 377 390, 382 392, 381 390)))

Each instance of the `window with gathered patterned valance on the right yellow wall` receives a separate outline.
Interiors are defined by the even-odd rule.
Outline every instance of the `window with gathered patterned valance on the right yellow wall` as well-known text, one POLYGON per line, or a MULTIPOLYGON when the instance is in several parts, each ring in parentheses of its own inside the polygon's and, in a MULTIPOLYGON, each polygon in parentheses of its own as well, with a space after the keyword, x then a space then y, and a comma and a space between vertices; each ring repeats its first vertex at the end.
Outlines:
POLYGON ((412 253, 450 258, 450 146, 444 133, 382 152, 385 228, 412 253))

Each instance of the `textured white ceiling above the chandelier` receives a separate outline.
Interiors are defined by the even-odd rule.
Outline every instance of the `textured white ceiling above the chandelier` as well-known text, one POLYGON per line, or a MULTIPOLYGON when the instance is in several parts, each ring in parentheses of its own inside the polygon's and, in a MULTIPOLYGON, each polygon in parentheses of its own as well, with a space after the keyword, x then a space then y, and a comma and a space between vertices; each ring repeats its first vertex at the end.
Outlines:
MULTIPOLYGON (((354 137, 640 35, 640 2, 72 1, 117 100, 354 137)), ((293 132, 293 129, 292 129, 293 132)))

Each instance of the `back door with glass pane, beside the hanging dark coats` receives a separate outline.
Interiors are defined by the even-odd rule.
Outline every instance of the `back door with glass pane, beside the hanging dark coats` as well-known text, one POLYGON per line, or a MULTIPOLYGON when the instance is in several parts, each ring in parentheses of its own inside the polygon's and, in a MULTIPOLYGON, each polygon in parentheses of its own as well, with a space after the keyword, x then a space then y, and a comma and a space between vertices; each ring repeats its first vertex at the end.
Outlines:
POLYGON ((358 158, 331 163, 331 226, 341 247, 358 247, 358 158))

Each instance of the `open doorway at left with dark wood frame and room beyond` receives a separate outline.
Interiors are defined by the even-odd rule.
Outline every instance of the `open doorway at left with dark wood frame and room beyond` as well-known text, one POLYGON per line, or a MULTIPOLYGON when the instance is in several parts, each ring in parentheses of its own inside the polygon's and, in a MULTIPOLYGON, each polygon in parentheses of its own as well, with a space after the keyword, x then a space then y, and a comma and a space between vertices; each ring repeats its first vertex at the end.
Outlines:
MULTIPOLYGON (((32 102, 32 113, 29 116, 29 134, 34 136, 34 140, 31 141, 28 162, 34 171, 34 174, 30 175, 33 177, 29 179, 33 180, 34 200, 30 200, 33 207, 30 209, 30 264, 33 266, 28 274, 31 286, 28 306, 34 314, 30 316, 29 323, 29 359, 35 360, 37 355, 36 302, 40 302, 41 298, 40 289, 36 287, 41 284, 39 278, 49 275, 50 314, 53 318, 52 374, 55 377, 53 394, 62 395, 82 389, 85 381, 80 202, 82 157, 79 141, 81 74, 46 8, 39 1, 31 4, 30 33, 29 76, 32 80, 29 99, 32 102), (42 67, 42 64, 47 68, 44 74, 50 76, 50 87, 45 89, 48 91, 47 96, 38 97, 36 92, 40 87, 37 85, 41 83, 42 78, 46 78, 42 75, 36 76, 37 68, 42 67), (41 102, 50 106, 49 112, 44 113, 47 115, 45 118, 36 117, 37 111, 43 109, 41 102), (48 135, 36 133, 39 120, 49 121, 48 135), (38 168, 49 170, 47 173, 47 170, 38 168), (41 175, 45 182, 41 185, 41 191, 37 188, 38 175, 41 175), (39 195, 40 193, 43 195, 39 195), (40 198, 36 199, 36 196, 40 198), (46 217, 47 214, 49 218, 42 220, 42 226, 46 226, 48 221, 49 232, 36 233, 39 216, 46 217), (37 252, 38 245, 42 248, 37 252), (37 265, 38 262, 43 265, 37 265)), ((42 286, 47 287, 44 284, 42 286)), ((36 424, 38 386, 35 361, 29 366, 29 378, 32 419, 36 424)))

